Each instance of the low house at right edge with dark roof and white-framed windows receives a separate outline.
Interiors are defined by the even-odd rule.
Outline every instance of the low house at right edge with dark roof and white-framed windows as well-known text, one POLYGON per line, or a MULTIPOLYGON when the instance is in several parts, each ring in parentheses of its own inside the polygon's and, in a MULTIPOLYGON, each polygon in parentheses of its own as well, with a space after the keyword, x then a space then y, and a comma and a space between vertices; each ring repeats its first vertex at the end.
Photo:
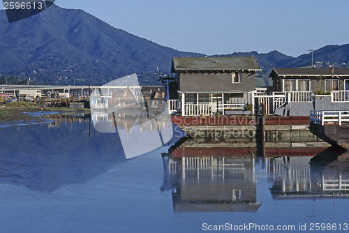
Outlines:
POLYGON ((285 97, 274 114, 309 116, 311 110, 349 110, 349 68, 274 68, 269 77, 272 96, 285 97))

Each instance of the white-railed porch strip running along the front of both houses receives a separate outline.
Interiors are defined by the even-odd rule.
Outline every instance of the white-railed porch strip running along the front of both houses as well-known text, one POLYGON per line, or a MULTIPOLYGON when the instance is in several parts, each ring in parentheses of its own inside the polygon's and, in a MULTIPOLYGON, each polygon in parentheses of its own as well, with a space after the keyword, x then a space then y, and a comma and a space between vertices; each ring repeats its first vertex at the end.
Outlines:
POLYGON ((248 93, 181 93, 179 100, 168 100, 168 110, 182 116, 213 116, 214 114, 261 114, 309 116, 311 110, 343 110, 349 107, 349 91, 331 91, 315 95, 312 91, 248 93), (184 104, 182 104, 184 103, 184 104))

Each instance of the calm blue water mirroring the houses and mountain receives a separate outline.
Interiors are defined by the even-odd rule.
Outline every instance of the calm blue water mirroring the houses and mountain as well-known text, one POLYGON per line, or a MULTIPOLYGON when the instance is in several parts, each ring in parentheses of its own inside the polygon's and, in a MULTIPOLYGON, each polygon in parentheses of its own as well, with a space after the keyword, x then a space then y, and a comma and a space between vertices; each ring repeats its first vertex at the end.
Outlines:
MULTIPOLYGON (((0 232, 210 232, 225 223, 347 232, 345 154, 319 165, 290 152, 184 149, 170 158, 163 146, 126 160, 117 133, 88 119, 1 129, 0 142, 0 232)), ((322 152, 333 153, 342 152, 322 152)))

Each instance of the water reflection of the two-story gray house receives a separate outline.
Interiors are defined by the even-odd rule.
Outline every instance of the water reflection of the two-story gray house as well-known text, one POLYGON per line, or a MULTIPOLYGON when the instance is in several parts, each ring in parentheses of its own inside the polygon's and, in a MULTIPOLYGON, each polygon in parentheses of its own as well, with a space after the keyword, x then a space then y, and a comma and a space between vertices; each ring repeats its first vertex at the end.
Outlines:
POLYGON ((205 151, 178 149, 164 157, 161 190, 172 190, 174 212, 258 211, 254 159, 205 151))

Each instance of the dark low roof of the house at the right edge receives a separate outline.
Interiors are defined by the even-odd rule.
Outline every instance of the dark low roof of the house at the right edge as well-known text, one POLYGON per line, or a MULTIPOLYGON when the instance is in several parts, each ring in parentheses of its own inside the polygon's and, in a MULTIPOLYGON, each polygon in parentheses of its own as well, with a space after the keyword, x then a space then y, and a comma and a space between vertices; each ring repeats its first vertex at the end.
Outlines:
MULTIPOLYGON (((334 68, 334 76, 349 76, 349 68, 334 68)), ((318 77, 332 76, 332 68, 274 68, 269 77, 275 76, 302 76, 302 77, 318 77)))

